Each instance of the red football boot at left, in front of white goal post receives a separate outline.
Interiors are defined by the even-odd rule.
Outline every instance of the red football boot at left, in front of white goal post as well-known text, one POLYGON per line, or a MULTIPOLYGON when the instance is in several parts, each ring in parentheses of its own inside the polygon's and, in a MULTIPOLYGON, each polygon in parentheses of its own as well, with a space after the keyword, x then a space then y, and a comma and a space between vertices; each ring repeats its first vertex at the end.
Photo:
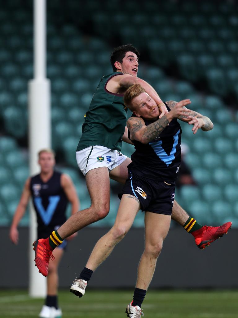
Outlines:
POLYGON ((38 239, 33 244, 33 250, 36 252, 36 257, 34 261, 36 262, 39 273, 42 273, 43 276, 48 275, 49 271, 49 261, 50 258, 54 260, 52 254, 52 248, 49 244, 49 239, 38 239))

